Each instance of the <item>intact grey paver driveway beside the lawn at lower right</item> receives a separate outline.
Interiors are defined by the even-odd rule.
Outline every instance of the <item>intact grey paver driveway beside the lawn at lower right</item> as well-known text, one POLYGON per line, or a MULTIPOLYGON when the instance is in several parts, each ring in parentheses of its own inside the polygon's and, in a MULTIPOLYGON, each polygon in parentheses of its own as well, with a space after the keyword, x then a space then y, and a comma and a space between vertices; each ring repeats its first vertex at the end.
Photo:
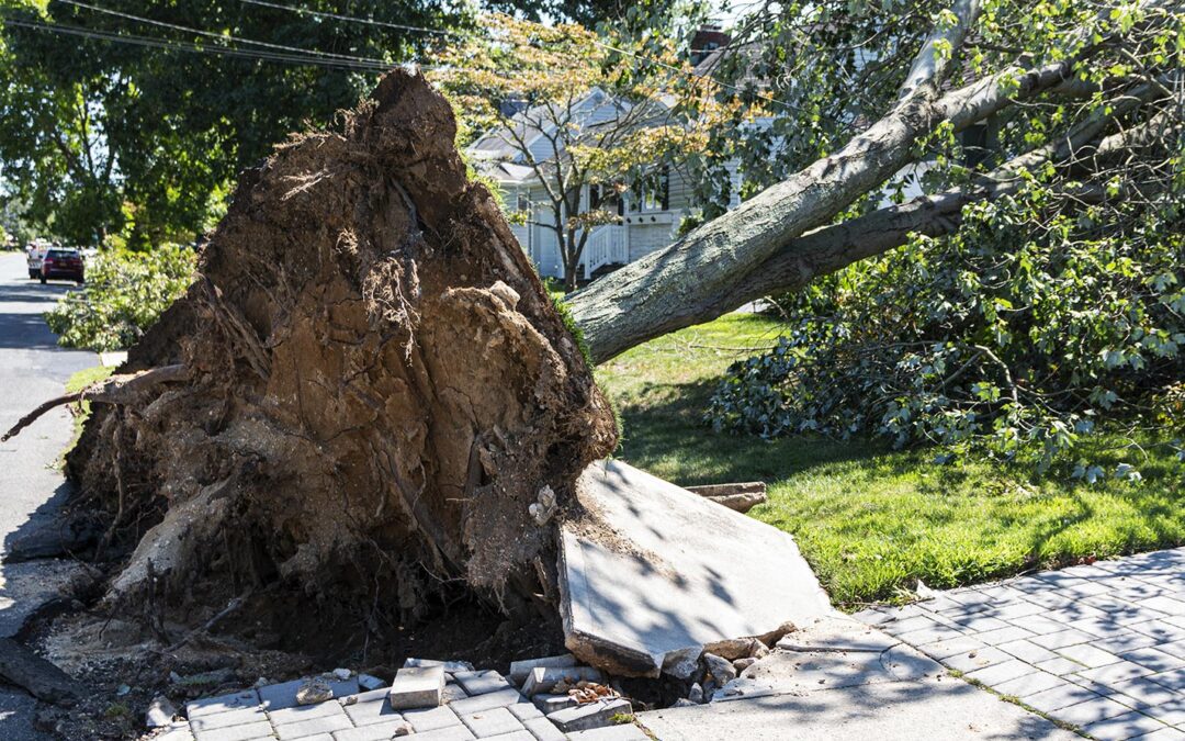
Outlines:
POLYGON ((1185 740, 1185 548, 857 618, 1095 739, 1185 740))

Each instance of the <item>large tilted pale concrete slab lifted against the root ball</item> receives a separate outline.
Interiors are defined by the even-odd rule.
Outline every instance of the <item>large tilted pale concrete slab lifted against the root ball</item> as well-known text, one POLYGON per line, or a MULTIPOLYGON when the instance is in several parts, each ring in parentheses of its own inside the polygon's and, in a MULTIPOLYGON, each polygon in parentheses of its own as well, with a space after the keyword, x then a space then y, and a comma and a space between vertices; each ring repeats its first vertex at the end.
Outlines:
MULTIPOLYGON (((656 677, 666 657, 832 614, 789 535, 610 460, 577 483, 565 523, 565 644, 610 673, 656 677)), ((697 652, 698 654, 698 652, 697 652)))

